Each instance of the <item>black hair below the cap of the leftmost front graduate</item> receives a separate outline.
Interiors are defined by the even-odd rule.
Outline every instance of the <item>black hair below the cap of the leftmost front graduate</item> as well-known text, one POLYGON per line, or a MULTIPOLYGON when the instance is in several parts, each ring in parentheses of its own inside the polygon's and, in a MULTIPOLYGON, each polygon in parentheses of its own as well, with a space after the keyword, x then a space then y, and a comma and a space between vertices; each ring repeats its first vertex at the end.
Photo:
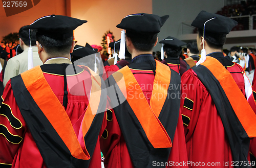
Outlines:
POLYGON ((72 46, 73 36, 57 40, 45 35, 36 33, 36 40, 42 45, 46 53, 51 57, 62 57, 70 53, 72 46))

